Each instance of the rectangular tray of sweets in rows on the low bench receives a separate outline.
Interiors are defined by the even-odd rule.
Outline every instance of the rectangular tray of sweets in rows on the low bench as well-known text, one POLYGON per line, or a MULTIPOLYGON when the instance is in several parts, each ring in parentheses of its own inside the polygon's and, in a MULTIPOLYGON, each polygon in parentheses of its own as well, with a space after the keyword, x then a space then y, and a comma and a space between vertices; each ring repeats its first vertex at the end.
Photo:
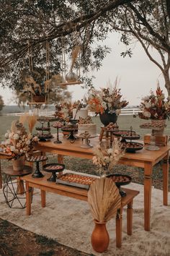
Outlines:
POLYGON ((94 182, 95 179, 97 178, 80 174, 67 173, 63 174, 59 179, 57 178, 56 184, 65 184, 73 187, 89 189, 91 183, 94 182))

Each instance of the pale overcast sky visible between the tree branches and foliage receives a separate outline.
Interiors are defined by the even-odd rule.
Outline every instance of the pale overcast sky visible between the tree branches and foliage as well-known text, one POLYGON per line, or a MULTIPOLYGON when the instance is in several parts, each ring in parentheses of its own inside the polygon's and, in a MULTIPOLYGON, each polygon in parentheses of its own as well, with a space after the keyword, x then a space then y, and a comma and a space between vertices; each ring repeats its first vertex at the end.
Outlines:
MULTIPOLYGON (((157 80, 167 95, 161 69, 158 69, 156 64, 148 59, 140 43, 130 46, 133 51, 132 58, 120 56, 120 53, 125 51, 125 46, 120 43, 120 35, 117 33, 109 34, 104 45, 112 48, 111 53, 104 59, 101 69, 88 74, 88 76, 96 77, 93 80, 95 88, 104 88, 109 81, 114 85, 115 79, 118 77, 120 81, 118 88, 121 88, 122 97, 129 101, 130 106, 138 106, 143 96, 148 95, 151 90, 156 90, 157 80)), ((152 54, 158 59, 156 52, 153 51, 152 54)), ((87 93, 87 90, 82 89, 81 85, 69 86, 68 90, 73 92, 73 100, 81 99, 87 93)), ((12 91, 8 88, 0 87, 0 95, 3 96, 6 105, 14 104, 12 91)))

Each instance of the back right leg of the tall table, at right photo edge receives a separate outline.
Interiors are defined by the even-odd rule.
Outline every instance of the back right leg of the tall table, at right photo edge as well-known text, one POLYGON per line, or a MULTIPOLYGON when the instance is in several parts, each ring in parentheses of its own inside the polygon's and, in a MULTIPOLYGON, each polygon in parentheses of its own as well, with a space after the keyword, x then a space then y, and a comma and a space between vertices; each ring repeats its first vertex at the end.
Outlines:
POLYGON ((169 195, 169 153, 164 158, 164 163, 162 165, 163 171, 163 203, 168 205, 168 195, 169 195))

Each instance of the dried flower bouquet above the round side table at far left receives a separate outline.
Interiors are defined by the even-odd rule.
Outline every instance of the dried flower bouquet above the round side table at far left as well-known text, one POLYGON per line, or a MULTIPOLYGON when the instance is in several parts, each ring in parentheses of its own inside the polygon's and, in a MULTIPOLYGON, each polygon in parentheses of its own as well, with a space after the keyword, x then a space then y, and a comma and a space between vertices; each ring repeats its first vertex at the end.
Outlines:
POLYGON ((29 133, 23 125, 23 122, 26 121, 26 115, 22 116, 19 120, 12 122, 11 129, 7 130, 5 134, 6 140, 1 142, 4 153, 8 153, 11 158, 17 159, 22 155, 27 155, 30 150, 32 150, 33 145, 38 141, 38 138, 31 134, 36 120, 36 116, 27 119, 30 129, 29 133))

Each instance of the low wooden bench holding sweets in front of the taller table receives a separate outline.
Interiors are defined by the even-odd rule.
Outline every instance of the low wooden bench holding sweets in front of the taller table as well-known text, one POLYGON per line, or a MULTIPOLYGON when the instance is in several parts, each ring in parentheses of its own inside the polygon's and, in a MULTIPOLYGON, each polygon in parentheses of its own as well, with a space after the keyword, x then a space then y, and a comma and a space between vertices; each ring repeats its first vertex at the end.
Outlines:
MULTIPOLYGON (((42 178, 32 178, 32 174, 23 176, 20 179, 26 182, 26 208, 27 215, 31 214, 31 202, 32 202, 32 189, 40 189, 41 192, 41 205, 45 207, 45 192, 53 192, 58 195, 64 195, 66 197, 73 197, 78 200, 87 201, 87 189, 81 189, 79 187, 71 187, 63 184, 55 184, 55 182, 48 182, 47 179, 50 174, 45 174, 42 178)), ((139 194, 139 191, 132 189, 124 189, 126 196, 122 197, 121 208, 117 210, 116 216, 116 245, 121 247, 122 244, 122 208, 127 205, 127 234, 132 234, 133 227, 133 198, 139 194)))

